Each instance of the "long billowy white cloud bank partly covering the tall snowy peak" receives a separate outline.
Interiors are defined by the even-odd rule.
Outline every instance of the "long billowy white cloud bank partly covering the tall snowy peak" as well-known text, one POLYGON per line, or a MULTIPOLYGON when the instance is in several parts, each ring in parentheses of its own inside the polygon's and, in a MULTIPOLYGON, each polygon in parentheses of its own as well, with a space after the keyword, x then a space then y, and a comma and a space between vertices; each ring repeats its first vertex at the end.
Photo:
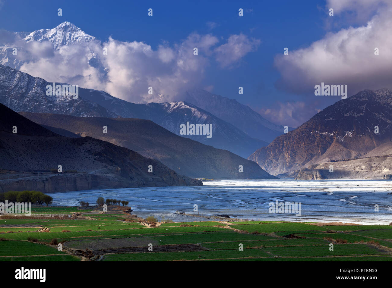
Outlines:
POLYGON ((239 62, 254 51, 260 40, 232 35, 219 46, 219 39, 212 34, 192 33, 179 43, 165 42, 156 50, 143 42, 123 42, 111 37, 103 43, 75 43, 58 50, 47 41, 16 42, 16 63, 24 63, 20 67, 23 72, 49 82, 78 84, 146 103, 176 100, 185 90, 201 83, 212 62, 218 61, 223 67, 239 62), (194 47, 198 48, 198 55, 193 54, 194 47), (107 48, 107 55, 103 55, 103 48, 107 48), (148 94, 148 87, 152 87, 152 95, 148 94))

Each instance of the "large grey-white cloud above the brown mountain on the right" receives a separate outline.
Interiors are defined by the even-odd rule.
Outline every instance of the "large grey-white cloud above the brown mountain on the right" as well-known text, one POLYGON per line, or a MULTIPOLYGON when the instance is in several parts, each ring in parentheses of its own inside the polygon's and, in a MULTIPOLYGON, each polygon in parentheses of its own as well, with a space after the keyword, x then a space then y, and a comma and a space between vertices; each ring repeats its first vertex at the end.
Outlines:
MULTIPOLYGON (((387 3, 330 0, 328 4, 338 11, 363 11, 368 9, 368 2, 387 3)), ((314 85, 321 82, 347 84, 349 96, 363 89, 392 88, 392 2, 388 3, 366 25, 327 33, 307 48, 276 56, 274 63, 281 73, 276 85, 296 93, 312 93, 314 85), (379 55, 374 54, 376 47, 379 55)))

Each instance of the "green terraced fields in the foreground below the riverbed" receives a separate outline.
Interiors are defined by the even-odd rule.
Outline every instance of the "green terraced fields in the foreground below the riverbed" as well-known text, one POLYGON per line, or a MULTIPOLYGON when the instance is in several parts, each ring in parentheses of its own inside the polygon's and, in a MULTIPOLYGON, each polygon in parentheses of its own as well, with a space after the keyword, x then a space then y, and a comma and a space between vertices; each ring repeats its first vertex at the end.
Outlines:
POLYGON ((0 217, 0 261, 392 260, 392 226, 388 225, 198 221, 149 227, 143 221, 122 221, 128 217, 124 214, 88 216, 0 217), (63 251, 50 245, 56 243, 53 239, 62 243, 63 251))

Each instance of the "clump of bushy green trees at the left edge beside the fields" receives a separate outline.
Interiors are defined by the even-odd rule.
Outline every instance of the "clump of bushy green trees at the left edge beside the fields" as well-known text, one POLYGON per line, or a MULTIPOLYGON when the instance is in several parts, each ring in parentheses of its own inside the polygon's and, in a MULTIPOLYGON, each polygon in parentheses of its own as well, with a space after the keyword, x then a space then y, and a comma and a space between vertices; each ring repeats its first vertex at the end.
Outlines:
POLYGON ((0 193, 0 202, 8 200, 8 202, 27 202, 32 204, 52 204, 53 198, 40 191, 8 191, 0 193))

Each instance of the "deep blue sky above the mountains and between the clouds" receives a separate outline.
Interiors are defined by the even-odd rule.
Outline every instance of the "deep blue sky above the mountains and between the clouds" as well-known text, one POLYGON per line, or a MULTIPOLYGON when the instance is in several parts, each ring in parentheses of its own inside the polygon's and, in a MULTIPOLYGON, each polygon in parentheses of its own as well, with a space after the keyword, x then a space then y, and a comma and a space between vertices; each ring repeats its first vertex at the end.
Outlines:
MULTIPOLYGON (((154 51, 162 44, 173 47, 192 33, 212 35, 219 40, 216 45, 227 43, 231 35, 243 34, 247 39, 259 41, 259 44, 227 66, 222 66, 214 56, 205 55, 209 60, 202 67, 200 79, 190 79, 190 82, 196 81, 198 87, 209 89, 214 94, 235 98, 278 124, 297 126, 316 114, 318 109, 323 109, 340 98, 317 98, 312 92, 313 85, 308 85, 310 89, 287 87, 285 83, 294 81, 292 79, 283 79, 282 84, 284 68, 279 68, 279 65, 277 67, 275 58, 283 55, 284 47, 289 47, 289 54, 299 49, 308 49, 312 43, 325 38, 327 33, 339 33, 341 29, 350 26, 356 29, 366 25, 369 19, 377 15, 376 8, 356 10, 349 3, 354 0, 347 0, 347 7, 335 4, 339 11, 334 17, 330 17, 327 7, 333 5, 334 1, 3 0, 0 29, 34 31, 53 28, 61 22, 69 21, 102 42, 111 36, 123 42, 143 42, 154 51), (58 8, 62 8, 63 16, 57 16, 58 8), (147 16, 149 8, 153 9, 152 17, 147 16), (239 8, 243 8, 244 16, 238 16, 239 8), (244 87, 242 95, 238 94, 239 86, 244 87), (290 121, 292 123, 287 123, 290 121)), ((374 7, 378 2, 383 2, 369 1, 377 2, 374 7)), ((203 55, 202 50, 200 54, 203 55)), ((317 60, 317 57, 314 59, 317 60)), ((303 69, 298 67, 298 63, 293 62, 291 65, 290 69, 293 69, 294 74, 303 69)), ((325 79, 331 78, 327 75, 325 79)), ((301 78, 296 81, 301 82, 301 78)), ((383 88, 382 84, 373 85, 374 87, 369 85, 368 88, 383 88)), ((356 87, 350 91, 358 92, 359 89, 356 87)), ((349 96, 353 94, 350 91, 349 96)))

